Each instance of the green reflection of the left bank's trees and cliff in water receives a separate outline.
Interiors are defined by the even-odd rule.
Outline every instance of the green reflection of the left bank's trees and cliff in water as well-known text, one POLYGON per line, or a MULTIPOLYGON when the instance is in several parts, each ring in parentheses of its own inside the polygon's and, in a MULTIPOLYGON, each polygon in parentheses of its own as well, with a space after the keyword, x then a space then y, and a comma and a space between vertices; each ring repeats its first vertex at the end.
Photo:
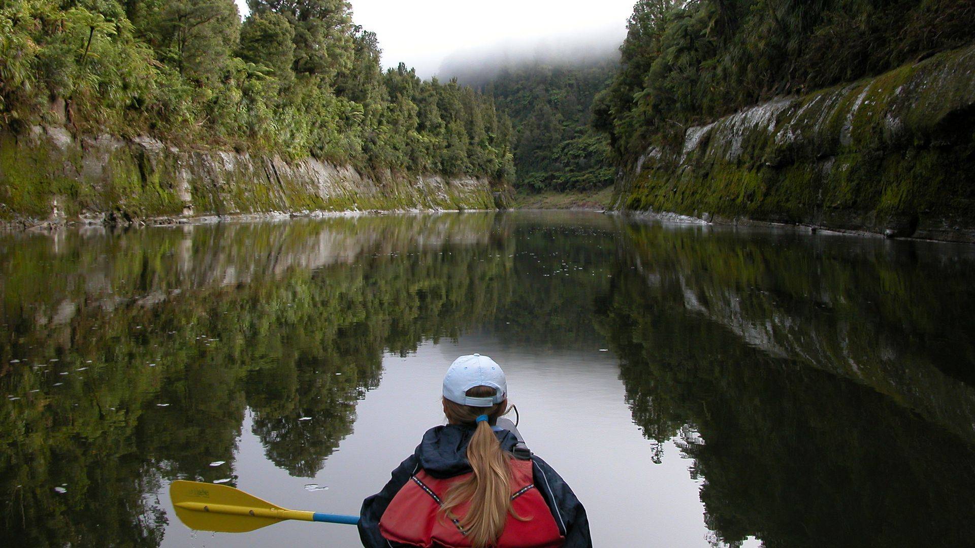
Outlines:
POLYGON ((248 408, 267 457, 313 475, 384 350, 490 313, 492 222, 2 236, 0 545, 158 545, 145 495, 228 477, 248 408))

